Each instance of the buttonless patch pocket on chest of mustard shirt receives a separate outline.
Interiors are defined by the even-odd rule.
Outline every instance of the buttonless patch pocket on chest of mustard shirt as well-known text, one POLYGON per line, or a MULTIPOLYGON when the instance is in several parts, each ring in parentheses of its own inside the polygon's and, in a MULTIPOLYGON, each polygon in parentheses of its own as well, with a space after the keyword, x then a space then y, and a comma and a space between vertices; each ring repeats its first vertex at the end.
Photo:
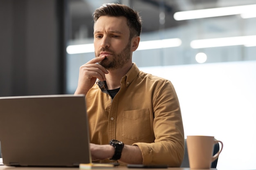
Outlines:
POLYGON ((148 108, 127 110, 122 115, 122 137, 137 141, 150 135, 148 108))

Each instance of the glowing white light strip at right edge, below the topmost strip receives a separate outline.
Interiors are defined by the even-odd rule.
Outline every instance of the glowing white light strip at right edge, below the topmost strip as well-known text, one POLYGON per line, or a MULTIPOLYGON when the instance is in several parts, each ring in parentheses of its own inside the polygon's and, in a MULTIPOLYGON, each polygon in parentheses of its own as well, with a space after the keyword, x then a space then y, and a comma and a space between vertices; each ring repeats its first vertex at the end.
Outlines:
POLYGON ((256 42, 256 35, 240 36, 240 37, 227 37, 227 38, 212 38, 204 40, 193 40, 190 46, 193 49, 203 49, 211 47, 220 46, 235 46, 235 45, 245 45, 254 46, 256 42))

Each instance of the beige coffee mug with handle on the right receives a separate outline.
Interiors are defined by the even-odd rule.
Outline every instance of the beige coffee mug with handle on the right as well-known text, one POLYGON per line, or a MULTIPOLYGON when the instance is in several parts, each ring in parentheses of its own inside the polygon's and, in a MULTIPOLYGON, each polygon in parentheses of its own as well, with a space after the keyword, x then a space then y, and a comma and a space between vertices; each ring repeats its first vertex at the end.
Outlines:
POLYGON ((187 136, 186 139, 189 166, 193 169, 209 169, 222 151, 223 143, 214 139, 213 136, 187 136), (213 155, 213 146, 221 144, 221 149, 213 155), (212 156, 213 155, 213 156, 212 156))

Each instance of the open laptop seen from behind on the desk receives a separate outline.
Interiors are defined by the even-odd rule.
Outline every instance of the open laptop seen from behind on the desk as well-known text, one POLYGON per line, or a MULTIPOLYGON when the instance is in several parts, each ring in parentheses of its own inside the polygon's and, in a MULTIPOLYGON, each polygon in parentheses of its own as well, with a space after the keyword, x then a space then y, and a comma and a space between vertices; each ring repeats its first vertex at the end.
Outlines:
POLYGON ((0 97, 0 143, 6 166, 91 163, 85 96, 0 97))

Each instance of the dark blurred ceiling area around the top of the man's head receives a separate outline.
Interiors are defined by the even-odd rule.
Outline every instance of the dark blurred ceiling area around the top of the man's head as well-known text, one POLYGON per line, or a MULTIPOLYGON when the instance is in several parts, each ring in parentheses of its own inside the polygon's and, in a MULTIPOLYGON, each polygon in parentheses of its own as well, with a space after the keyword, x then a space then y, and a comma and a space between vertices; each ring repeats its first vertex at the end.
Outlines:
POLYGON ((69 39, 91 38, 94 9, 112 2, 120 2, 139 11, 143 20, 142 32, 145 33, 186 23, 173 19, 177 11, 254 4, 256 0, 69 0, 69 39))

